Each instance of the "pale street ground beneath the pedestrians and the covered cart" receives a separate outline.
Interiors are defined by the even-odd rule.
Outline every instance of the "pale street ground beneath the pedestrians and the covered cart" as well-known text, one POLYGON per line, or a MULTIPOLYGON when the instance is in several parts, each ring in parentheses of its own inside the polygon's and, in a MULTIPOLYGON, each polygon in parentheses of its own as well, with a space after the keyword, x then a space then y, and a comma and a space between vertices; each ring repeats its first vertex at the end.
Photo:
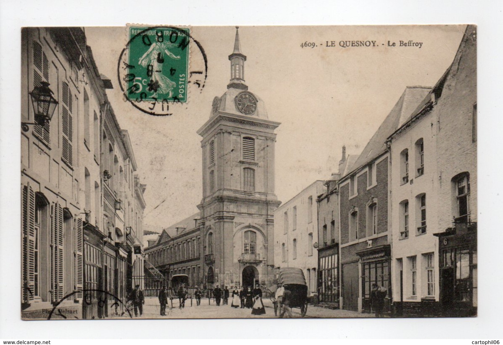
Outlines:
MULTIPOLYGON (((274 305, 270 299, 264 298, 264 306, 266 314, 264 315, 251 315, 251 309, 247 308, 232 308, 229 304, 217 306, 213 299, 208 301, 208 298, 201 299, 201 305, 196 305, 196 300, 188 299, 185 301, 185 308, 179 308, 178 298, 173 301, 168 300, 169 304, 166 307, 166 315, 160 316, 160 306, 157 297, 146 297, 143 306, 143 315, 133 318, 141 319, 212 319, 212 318, 275 318, 274 305), (173 308, 170 308, 173 302, 173 308)), ((293 308, 292 315, 294 318, 301 318, 300 309, 293 308)), ((355 318, 355 317, 374 317, 373 314, 362 314, 356 311, 341 310, 341 309, 327 309, 323 307, 316 307, 309 305, 305 318, 355 318)), ((122 316, 113 316, 111 318, 129 318, 126 313, 122 316)))

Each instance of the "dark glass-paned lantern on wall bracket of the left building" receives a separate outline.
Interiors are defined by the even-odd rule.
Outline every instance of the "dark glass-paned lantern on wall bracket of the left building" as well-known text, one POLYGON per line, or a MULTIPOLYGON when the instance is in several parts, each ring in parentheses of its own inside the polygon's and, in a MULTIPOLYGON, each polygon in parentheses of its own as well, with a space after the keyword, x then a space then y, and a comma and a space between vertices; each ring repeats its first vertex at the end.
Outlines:
POLYGON ((35 122, 22 122, 21 128, 24 132, 28 132, 28 125, 44 126, 46 122, 51 121, 54 110, 58 105, 58 101, 52 97, 54 93, 49 89, 49 83, 41 81, 40 86, 33 89, 30 97, 33 104, 33 112, 35 113, 35 122))

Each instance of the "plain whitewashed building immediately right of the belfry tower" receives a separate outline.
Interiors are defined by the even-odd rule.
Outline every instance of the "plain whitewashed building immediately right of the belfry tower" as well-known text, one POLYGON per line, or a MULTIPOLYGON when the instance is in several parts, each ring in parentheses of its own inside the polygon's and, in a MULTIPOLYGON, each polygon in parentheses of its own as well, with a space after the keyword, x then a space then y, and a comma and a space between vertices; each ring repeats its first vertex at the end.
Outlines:
POLYGON ((317 293, 318 242, 316 199, 323 192, 323 181, 315 181, 274 212, 274 262, 277 268, 302 269, 308 296, 317 293))

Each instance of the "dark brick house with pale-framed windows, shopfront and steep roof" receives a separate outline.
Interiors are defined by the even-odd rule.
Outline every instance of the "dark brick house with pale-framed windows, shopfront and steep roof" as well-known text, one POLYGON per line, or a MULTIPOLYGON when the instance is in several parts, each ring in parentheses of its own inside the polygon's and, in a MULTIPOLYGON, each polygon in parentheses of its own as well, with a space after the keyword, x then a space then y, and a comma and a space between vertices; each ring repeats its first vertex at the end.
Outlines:
POLYGON ((398 128, 428 93, 407 88, 350 172, 339 182, 341 305, 370 312, 373 283, 388 290, 385 312, 391 305, 391 236, 388 224, 390 157, 387 137, 398 128))

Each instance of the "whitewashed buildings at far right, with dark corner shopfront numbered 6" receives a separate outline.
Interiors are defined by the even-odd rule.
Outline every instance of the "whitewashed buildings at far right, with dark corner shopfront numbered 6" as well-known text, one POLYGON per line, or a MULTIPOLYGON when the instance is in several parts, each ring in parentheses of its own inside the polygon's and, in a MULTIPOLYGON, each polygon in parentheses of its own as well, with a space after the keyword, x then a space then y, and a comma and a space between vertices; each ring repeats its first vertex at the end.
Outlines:
POLYGON ((475 61, 476 29, 467 26, 452 65, 389 138, 400 162, 392 171, 397 315, 476 314, 475 61))

